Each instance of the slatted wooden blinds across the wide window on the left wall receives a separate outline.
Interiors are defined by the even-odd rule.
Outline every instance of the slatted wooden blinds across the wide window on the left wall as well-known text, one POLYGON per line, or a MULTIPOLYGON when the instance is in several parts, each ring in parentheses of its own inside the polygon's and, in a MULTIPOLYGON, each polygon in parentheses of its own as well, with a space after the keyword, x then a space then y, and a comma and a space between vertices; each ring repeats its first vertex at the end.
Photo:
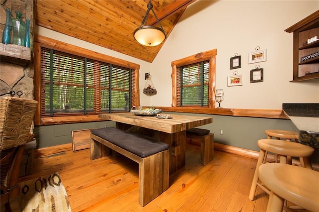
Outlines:
POLYGON ((41 116, 125 111, 134 70, 41 47, 41 116))

